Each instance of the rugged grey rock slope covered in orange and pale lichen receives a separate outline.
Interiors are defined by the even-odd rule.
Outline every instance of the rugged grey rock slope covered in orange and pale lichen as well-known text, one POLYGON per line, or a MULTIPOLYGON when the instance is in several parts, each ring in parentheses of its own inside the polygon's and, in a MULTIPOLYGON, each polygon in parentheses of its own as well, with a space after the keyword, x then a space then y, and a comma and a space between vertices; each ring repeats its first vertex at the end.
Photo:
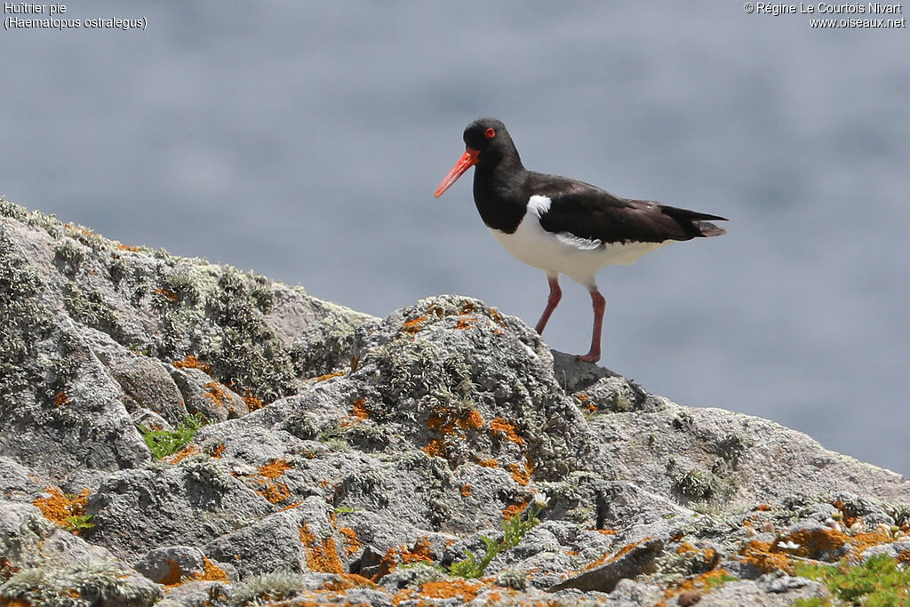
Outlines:
POLYGON ((5 600, 784 605, 910 555, 905 478, 477 299, 374 319, 3 199, 0 245, 5 600))

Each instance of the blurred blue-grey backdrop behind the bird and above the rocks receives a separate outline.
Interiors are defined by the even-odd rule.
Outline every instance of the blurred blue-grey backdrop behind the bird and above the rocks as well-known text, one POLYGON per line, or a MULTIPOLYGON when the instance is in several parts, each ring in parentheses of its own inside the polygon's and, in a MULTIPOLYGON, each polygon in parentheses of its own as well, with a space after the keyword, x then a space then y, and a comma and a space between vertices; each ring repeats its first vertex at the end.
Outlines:
MULTIPOLYGON (((604 366, 910 473, 906 27, 720 0, 66 6, 147 29, 0 32, 9 199, 377 316, 454 292, 533 324, 546 280, 470 174, 432 196, 495 116, 529 168, 731 219, 601 271, 604 366)), ((586 351, 590 298, 563 293, 544 337, 586 351)))

